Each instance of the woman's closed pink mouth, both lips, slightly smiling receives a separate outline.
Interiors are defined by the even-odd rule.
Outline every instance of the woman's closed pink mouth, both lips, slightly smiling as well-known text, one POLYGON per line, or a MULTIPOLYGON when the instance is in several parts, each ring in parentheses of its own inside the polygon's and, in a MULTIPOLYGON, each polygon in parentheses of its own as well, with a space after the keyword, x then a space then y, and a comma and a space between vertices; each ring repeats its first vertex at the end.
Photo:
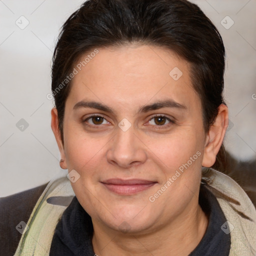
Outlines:
POLYGON ((101 181, 111 192, 119 195, 131 195, 148 189, 156 184, 156 181, 145 179, 120 179, 111 178, 101 181))

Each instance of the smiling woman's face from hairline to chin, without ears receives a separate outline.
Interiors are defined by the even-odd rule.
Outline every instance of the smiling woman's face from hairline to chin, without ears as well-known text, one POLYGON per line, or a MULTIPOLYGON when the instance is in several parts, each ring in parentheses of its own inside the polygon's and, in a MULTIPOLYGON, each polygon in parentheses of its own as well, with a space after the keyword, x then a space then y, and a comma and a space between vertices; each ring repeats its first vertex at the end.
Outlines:
POLYGON ((115 230, 182 220, 198 206, 205 144, 188 63, 149 45, 92 55, 75 66, 63 120, 61 154, 78 201, 115 230))

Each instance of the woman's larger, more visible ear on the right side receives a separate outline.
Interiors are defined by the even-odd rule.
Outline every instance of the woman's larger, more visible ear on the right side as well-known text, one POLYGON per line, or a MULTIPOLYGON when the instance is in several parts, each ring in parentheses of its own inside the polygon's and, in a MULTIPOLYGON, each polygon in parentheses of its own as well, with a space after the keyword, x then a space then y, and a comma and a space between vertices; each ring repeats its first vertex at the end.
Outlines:
POLYGON ((202 166, 210 167, 216 160, 216 155, 222 144, 228 126, 228 109, 224 104, 218 107, 218 114, 214 123, 210 126, 205 139, 202 166))

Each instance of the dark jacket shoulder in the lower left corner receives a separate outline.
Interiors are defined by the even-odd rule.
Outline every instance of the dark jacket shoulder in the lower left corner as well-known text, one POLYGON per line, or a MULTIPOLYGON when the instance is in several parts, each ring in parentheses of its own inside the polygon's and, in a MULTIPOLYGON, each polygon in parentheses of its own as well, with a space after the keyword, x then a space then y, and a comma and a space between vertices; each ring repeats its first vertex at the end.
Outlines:
POLYGON ((0 248, 3 255, 13 255, 21 233, 16 226, 27 223, 36 201, 47 183, 5 197, 0 197, 0 248))

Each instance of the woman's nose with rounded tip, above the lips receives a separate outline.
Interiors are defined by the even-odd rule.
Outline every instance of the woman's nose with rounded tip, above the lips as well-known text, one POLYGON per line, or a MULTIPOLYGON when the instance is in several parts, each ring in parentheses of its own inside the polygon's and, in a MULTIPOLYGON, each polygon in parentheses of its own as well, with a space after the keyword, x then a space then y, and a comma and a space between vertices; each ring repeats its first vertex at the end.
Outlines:
POLYGON ((116 132, 107 150, 107 161, 122 168, 130 168, 145 162, 146 146, 134 133, 133 127, 126 131, 117 128, 116 132))

